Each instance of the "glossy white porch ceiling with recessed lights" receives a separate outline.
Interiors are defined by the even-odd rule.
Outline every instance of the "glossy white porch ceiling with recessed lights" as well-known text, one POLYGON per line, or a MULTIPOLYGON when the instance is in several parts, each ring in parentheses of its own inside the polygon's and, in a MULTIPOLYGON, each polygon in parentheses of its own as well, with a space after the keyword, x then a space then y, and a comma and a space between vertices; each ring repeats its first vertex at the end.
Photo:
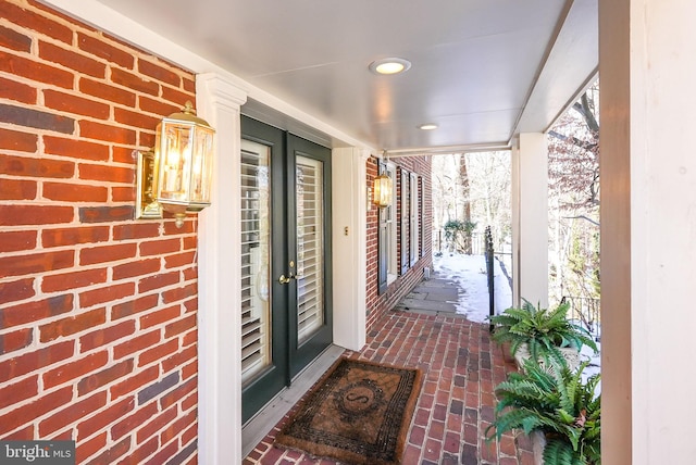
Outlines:
MULTIPOLYGON (((393 153, 507 146, 545 130, 597 68, 597 0, 98 2, 393 153), (386 56, 412 67, 370 73, 386 56)), ((254 102, 245 111, 271 114, 254 102)))

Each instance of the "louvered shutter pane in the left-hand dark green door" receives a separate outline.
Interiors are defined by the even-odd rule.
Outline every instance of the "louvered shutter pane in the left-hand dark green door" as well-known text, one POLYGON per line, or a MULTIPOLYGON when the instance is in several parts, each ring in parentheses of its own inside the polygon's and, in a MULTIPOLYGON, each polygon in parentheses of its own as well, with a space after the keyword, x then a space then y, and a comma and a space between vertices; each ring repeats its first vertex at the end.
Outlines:
POLYGON ((271 150, 241 141, 241 380, 271 364, 271 150))

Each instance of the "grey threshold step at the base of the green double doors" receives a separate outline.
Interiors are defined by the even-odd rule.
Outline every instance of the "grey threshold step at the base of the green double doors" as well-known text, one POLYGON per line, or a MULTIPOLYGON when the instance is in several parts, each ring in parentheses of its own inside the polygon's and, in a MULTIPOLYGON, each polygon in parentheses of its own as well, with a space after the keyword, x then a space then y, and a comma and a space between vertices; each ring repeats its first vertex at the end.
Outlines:
POLYGON ((283 419, 344 352, 344 348, 334 344, 330 345, 297 375, 293 380, 293 385, 278 392, 271 402, 241 427, 241 456, 246 457, 253 451, 253 448, 266 437, 269 431, 283 419))

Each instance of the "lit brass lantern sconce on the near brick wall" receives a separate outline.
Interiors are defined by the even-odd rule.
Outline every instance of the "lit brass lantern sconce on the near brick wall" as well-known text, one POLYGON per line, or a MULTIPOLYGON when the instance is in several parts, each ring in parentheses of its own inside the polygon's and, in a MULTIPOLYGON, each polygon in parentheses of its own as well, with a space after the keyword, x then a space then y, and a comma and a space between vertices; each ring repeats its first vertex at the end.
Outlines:
POLYGON ((154 149, 137 154, 136 218, 162 218, 164 210, 182 227, 187 213, 210 206, 214 134, 191 102, 162 118, 154 149))

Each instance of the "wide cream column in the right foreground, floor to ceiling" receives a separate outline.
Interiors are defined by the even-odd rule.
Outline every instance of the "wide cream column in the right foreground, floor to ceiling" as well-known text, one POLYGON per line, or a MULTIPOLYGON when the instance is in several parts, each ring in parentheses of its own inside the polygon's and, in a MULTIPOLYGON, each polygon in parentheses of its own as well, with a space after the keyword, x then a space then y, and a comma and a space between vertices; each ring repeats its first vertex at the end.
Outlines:
POLYGON ((599 2, 602 462, 696 457, 696 2, 599 2))

